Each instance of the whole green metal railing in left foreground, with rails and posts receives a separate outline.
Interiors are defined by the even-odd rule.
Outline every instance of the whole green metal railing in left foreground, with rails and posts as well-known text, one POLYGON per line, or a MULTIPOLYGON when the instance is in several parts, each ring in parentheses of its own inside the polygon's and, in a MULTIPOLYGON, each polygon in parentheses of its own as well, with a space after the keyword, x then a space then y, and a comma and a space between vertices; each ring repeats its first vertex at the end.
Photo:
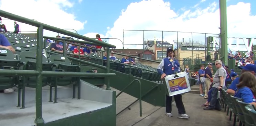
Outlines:
MULTIPOLYGON (((25 24, 29 24, 35 27, 38 27, 37 30, 37 42, 36 42, 36 71, 26 71, 26 70, 0 70, 0 75, 34 75, 36 76, 36 92, 35 92, 35 108, 36 108, 36 117, 35 117, 35 123, 37 126, 44 126, 44 119, 42 117, 42 76, 76 76, 76 77, 85 77, 88 75, 94 75, 94 76, 114 76, 116 74, 114 73, 109 73, 109 48, 116 48, 114 45, 110 45, 108 43, 100 42, 98 40, 88 38, 76 33, 72 33, 67 30, 63 30, 57 27, 53 27, 50 25, 46 25, 34 20, 30 20, 29 18, 24 18, 18 15, 14 15, 12 13, 2 11, 0 10, 0 15, 2 17, 9 18, 11 20, 15 20, 18 22, 22 22, 25 24), (86 41, 91 41, 94 44, 99 44, 100 46, 105 46, 107 47, 107 72, 106 73, 85 73, 85 72, 80 72, 80 73, 74 73, 74 72, 49 72, 49 71, 42 71, 42 50, 43 50, 43 30, 50 30, 54 31, 57 33, 61 33, 64 35, 72 36, 78 39, 86 40, 86 41)), ((80 43, 90 43, 86 41, 81 41, 80 43)), ((65 45, 65 43, 64 43, 65 45)), ((109 79, 108 79, 108 85, 107 89, 109 90, 109 79)))

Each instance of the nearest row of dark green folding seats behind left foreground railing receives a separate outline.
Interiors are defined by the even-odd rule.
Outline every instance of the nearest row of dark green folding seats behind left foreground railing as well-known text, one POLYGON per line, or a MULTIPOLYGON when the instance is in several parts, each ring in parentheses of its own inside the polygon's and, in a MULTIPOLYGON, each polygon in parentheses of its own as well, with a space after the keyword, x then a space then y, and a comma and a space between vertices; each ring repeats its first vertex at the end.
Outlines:
MULTIPOLYGON (((80 72, 78 65, 62 55, 50 55, 49 58, 42 58, 43 71, 58 72, 80 72)), ((0 48, 0 67, 4 70, 36 70, 36 53, 32 51, 22 51, 19 55, 14 55, 10 50, 0 48)), ((18 106, 20 106, 20 96, 22 89, 22 108, 24 108, 25 87, 35 88, 35 76, 0 76, 0 90, 17 87, 18 106)), ((79 77, 46 77, 42 78, 42 86, 50 86, 50 101, 52 101, 52 87, 55 88, 54 101, 57 98, 57 86, 73 85, 73 97, 75 97, 75 86, 80 83, 79 77)))

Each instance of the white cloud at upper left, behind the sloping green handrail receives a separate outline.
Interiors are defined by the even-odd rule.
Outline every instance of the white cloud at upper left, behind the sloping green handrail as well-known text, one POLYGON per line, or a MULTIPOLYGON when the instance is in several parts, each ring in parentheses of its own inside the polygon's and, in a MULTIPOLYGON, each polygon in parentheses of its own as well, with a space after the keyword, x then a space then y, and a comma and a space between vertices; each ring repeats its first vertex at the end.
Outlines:
MULTIPOLYGON (((74 14, 64 11, 67 8, 72 8, 73 5, 74 3, 69 0, 0 0, 0 9, 3 11, 34 19, 38 22, 58 28, 72 28, 77 31, 82 30, 84 29, 86 21, 77 21, 74 14)), ((2 23, 6 25, 7 30, 14 30, 12 20, 2 21, 2 23)), ((19 22, 17 23, 20 24, 19 22)), ((37 28, 21 23, 20 30, 36 31, 37 28)), ((69 31, 75 32, 74 30, 69 31)), ((57 33, 44 30, 44 35, 56 36, 57 33)))

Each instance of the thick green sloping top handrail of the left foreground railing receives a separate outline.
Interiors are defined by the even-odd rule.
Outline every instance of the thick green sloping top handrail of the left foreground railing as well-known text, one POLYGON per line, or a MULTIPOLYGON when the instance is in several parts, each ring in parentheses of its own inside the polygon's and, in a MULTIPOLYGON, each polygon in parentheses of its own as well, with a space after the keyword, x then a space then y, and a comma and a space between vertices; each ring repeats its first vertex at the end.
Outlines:
POLYGON ((25 17, 19 16, 19 15, 15 15, 15 14, 12 14, 12 13, 9 13, 9 12, 6 12, 6 11, 0 10, 0 15, 5 17, 5 18, 9 18, 11 20, 19 21, 19 22, 29 24, 29 25, 32 25, 32 26, 35 26, 35 27, 43 27, 43 29, 54 31, 56 33, 61 33, 61 34, 64 34, 64 35, 68 34, 68 36, 72 36, 72 37, 75 37, 75 38, 78 38, 78 39, 83 39, 83 40, 86 40, 86 41, 95 42, 97 44, 101 44, 103 46, 110 47, 110 48, 116 48, 116 46, 114 46, 114 45, 110 45, 110 44, 105 43, 105 42, 101 42, 101 41, 98 41, 98 40, 95 40, 95 39, 92 39, 92 38, 88 38, 88 37, 85 37, 83 35, 73 33, 71 31, 63 30, 61 28, 46 25, 46 24, 31 20, 29 18, 25 18, 25 17))

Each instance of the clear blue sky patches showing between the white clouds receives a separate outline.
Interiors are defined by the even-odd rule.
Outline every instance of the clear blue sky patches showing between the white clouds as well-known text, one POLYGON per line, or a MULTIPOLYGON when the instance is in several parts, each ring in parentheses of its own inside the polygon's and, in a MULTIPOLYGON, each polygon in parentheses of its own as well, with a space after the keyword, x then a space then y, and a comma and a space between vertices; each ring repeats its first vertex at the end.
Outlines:
MULTIPOLYGON (((79 34, 86 33, 100 33, 106 34, 107 27, 113 27, 114 22, 118 19, 122 9, 126 9, 127 6, 132 2, 140 2, 141 0, 83 0, 81 4, 75 4, 73 8, 67 9, 67 12, 74 13, 78 21, 87 21, 84 30, 80 30, 79 34)), ((171 3, 171 9, 176 13, 183 13, 184 10, 190 9, 195 10, 196 8, 205 8, 211 3, 218 0, 206 0, 201 2, 197 7, 194 5, 198 4, 201 0, 164 0, 164 2, 171 3), (184 10, 183 10, 184 9, 184 10)), ((252 7, 256 7, 255 0, 228 0, 227 6, 235 5, 238 2, 250 2, 252 7)), ((217 7, 219 7, 217 5, 217 7)), ((252 8, 251 12, 253 15, 256 14, 256 8, 252 8)))

